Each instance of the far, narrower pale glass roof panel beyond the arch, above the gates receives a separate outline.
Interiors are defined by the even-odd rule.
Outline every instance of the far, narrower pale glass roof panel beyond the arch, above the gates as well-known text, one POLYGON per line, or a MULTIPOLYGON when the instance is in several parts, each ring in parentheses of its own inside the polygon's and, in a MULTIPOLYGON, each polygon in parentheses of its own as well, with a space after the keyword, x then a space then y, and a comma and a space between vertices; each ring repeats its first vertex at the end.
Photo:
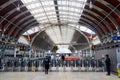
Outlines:
MULTIPOLYGON (((74 32, 75 32, 74 28, 67 26, 61 26, 61 27, 54 26, 46 30, 46 33, 56 44, 70 43, 70 41, 73 38, 74 32)), ((68 48, 68 46, 69 45, 59 45, 59 47, 66 47, 66 48, 68 48)))

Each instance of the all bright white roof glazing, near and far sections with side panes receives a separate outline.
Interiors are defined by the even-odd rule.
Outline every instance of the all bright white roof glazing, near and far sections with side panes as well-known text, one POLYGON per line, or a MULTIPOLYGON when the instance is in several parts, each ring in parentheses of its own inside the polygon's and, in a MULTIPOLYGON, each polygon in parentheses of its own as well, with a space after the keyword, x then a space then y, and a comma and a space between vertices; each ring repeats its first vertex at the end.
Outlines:
MULTIPOLYGON (((32 34, 47 27, 45 32, 56 43, 70 43, 75 28, 88 33, 90 29, 78 27, 87 0, 22 0, 27 9, 42 26, 32 28, 24 34, 32 34), (72 26, 72 27, 70 27, 72 26)), ((68 48, 69 45, 58 45, 68 48)))

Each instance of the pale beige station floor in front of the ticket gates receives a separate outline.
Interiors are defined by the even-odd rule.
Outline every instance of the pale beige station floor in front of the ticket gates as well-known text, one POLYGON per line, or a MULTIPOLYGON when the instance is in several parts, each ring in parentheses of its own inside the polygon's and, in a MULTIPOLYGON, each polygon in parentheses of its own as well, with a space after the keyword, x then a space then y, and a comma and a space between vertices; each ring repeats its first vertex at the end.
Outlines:
POLYGON ((105 72, 0 72, 0 80, 120 80, 105 72))

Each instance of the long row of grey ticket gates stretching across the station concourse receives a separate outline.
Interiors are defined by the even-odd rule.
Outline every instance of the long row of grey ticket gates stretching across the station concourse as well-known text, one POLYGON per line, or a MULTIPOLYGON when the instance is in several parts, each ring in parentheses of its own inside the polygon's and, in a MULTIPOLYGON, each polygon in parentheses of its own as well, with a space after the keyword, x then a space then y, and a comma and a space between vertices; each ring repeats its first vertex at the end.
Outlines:
MULTIPOLYGON (((50 71, 104 71, 104 63, 101 60, 95 59, 65 59, 62 60, 51 60, 50 71)), ((4 71, 44 71, 44 64, 42 59, 18 61, 9 60, 5 63, 4 71)), ((119 71, 119 69, 118 69, 119 71)))

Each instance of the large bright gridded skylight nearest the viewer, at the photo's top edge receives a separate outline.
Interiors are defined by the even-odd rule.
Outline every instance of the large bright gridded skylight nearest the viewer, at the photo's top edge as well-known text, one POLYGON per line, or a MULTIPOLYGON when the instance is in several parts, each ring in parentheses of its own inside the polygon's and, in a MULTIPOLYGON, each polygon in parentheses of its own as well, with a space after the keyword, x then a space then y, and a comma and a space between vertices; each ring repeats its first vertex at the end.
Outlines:
POLYGON ((87 0, 22 0, 40 24, 78 23, 87 0))

